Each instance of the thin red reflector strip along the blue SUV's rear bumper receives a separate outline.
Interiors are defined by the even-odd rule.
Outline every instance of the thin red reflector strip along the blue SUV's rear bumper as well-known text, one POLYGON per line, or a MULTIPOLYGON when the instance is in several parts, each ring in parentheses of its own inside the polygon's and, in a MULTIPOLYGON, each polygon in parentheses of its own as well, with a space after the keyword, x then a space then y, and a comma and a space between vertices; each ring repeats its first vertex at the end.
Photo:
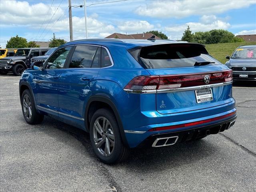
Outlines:
POLYGON ((230 117, 234 114, 236 114, 236 111, 234 111, 232 113, 229 113, 229 114, 226 114, 226 115, 222 115, 222 116, 219 116, 219 117, 214 117, 214 118, 210 118, 210 119, 206 119, 206 120, 202 120, 202 121, 196 121, 196 122, 179 124, 179 125, 172 125, 172 126, 166 126, 166 127, 157 127, 157 128, 152 128, 148 131, 163 131, 163 130, 170 130, 170 129, 177 129, 177 128, 195 126, 195 125, 200 125, 200 124, 209 123, 209 122, 212 122, 212 121, 224 119, 224 118, 230 117))

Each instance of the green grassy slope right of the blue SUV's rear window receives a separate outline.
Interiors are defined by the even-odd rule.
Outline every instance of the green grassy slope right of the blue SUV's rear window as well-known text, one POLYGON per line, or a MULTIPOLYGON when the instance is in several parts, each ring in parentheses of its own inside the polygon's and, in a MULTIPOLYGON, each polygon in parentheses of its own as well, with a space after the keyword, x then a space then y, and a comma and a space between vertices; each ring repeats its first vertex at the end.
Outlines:
POLYGON ((206 50, 221 63, 225 64, 227 59, 226 56, 234 52, 234 50, 240 45, 256 45, 256 42, 236 42, 236 43, 218 43, 218 44, 207 44, 206 50))

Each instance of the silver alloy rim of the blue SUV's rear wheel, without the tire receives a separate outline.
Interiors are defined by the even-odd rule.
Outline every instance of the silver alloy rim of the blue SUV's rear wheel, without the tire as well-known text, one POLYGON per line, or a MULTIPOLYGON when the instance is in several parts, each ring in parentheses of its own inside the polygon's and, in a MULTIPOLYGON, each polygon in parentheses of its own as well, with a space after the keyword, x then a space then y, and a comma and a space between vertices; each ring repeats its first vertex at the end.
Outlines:
POLYGON ((95 120, 93 140, 102 156, 108 157, 112 154, 115 146, 115 136, 112 125, 107 118, 100 116, 95 120))

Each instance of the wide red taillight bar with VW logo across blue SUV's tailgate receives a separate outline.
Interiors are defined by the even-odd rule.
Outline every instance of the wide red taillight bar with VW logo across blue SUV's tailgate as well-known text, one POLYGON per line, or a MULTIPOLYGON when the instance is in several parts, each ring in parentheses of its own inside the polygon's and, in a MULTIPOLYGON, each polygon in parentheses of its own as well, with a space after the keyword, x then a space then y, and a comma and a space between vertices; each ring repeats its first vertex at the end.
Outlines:
POLYGON ((178 74, 178 75, 154 75, 137 76, 133 78, 125 87, 125 90, 162 90, 173 88, 184 88, 192 86, 202 86, 207 84, 217 84, 232 81, 232 70, 178 74))

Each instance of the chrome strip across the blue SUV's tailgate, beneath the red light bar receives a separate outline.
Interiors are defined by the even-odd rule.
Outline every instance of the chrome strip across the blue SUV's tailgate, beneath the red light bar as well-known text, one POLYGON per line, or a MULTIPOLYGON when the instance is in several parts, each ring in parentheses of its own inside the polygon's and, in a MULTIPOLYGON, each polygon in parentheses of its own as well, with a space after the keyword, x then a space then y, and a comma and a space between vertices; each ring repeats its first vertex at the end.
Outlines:
POLYGON ((216 83, 216 84, 210 84, 210 85, 200 85, 200 86, 172 88, 172 89, 159 89, 159 90, 130 90, 130 89, 124 89, 124 91, 128 92, 128 93, 137 93, 137 94, 168 93, 168 92, 189 91, 189 90, 219 87, 219 86, 232 84, 232 82, 233 81, 228 81, 228 82, 216 83))

